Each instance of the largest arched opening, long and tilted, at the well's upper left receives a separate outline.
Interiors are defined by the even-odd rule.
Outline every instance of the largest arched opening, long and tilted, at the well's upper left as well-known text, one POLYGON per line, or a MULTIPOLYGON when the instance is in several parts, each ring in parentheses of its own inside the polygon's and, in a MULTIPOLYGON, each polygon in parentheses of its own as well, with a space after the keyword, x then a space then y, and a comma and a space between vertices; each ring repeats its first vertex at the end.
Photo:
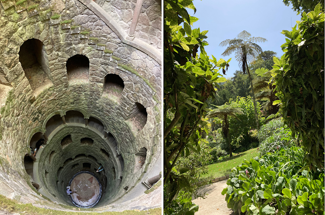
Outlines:
POLYGON ((19 62, 31 89, 38 95, 44 88, 53 86, 49 61, 42 41, 29 39, 19 50, 19 62))

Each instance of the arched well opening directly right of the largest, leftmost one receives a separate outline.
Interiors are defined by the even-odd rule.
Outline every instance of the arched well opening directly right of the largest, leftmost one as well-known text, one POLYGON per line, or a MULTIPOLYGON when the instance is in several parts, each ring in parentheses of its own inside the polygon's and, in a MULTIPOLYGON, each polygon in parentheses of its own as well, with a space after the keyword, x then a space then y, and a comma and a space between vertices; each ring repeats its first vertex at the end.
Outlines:
POLYGON ((69 83, 88 82, 89 59, 84 55, 74 55, 67 61, 67 75, 69 83))

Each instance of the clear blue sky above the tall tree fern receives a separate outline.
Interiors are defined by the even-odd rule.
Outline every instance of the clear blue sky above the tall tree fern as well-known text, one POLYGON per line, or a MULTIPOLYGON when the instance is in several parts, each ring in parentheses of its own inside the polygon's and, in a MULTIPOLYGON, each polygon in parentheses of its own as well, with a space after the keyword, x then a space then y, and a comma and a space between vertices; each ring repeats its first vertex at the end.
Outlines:
POLYGON ((246 30, 252 37, 266 38, 267 42, 257 44, 263 51, 274 51, 280 57, 283 54, 280 46, 285 43, 281 31, 291 30, 291 23, 294 27, 301 17, 281 0, 194 0, 193 4, 197 12, 193 14, 194 11, 189 9, 188 13, 199 20, 193 24, 192 29, 200 27, 201 31, 209 30, 206 34, 206 41, 209 43, 205 47, 207 54, 210 58, 211 55, 217 59, 232 58, 224 76, 226 78, 233 77, 239 66, 235 54, 225 57, 221 55, 225 50, 225 47, 219 46, 222 41, 234 39, 238 33, 246 30))

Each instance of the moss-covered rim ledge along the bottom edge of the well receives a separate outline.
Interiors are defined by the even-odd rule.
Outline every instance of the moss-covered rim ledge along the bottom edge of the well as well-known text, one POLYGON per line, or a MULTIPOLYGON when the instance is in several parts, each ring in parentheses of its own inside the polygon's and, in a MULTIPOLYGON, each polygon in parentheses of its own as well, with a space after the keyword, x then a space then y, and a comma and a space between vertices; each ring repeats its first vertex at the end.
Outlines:
MULTIPOLYGON (((78 208, 76 208, 78 210, 78 208)), ((24 212, 24 214, 30 214, 30 215, 37 215, 37 214, 72 214, 72 215, 78 215, 78 214, 85 214, 84 212, 70 212, 70 211, 61 211, 61 210, 51 210, 51 209, 45 209, 45 208, 39 208, 36 206, 33 206, 31 203, 29 204, 21 204, 17 202, 16 200, 8 199, 3 195, 0 195, 0 211, 5 210, 10 213, 15 212, 24 212)), ((160 215, 161 214, 161 208, 153 208, 149 210, 124 210, 122 212, 103 212, 102 215, 123 215, 123 214, 130 214, 130 215, 142 215, 142 214, 154 214, 154 215, 160 215)), ((89 212, 87 213, 89 215, 98 214, 95 212, 89 212)))

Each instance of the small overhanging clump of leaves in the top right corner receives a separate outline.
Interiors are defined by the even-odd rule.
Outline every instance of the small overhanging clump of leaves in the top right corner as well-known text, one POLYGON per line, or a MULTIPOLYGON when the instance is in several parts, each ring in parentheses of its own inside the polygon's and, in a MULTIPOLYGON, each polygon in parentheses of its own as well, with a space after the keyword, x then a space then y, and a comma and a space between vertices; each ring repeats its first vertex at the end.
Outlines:
POLYGON ((292 4, 293 10, 298 13, 310 12, 314 10, 317 4, 321 5, 321 10, 324 11, 324 1, 319 0, 283 0, 284 5, 289 6, 292 4))

